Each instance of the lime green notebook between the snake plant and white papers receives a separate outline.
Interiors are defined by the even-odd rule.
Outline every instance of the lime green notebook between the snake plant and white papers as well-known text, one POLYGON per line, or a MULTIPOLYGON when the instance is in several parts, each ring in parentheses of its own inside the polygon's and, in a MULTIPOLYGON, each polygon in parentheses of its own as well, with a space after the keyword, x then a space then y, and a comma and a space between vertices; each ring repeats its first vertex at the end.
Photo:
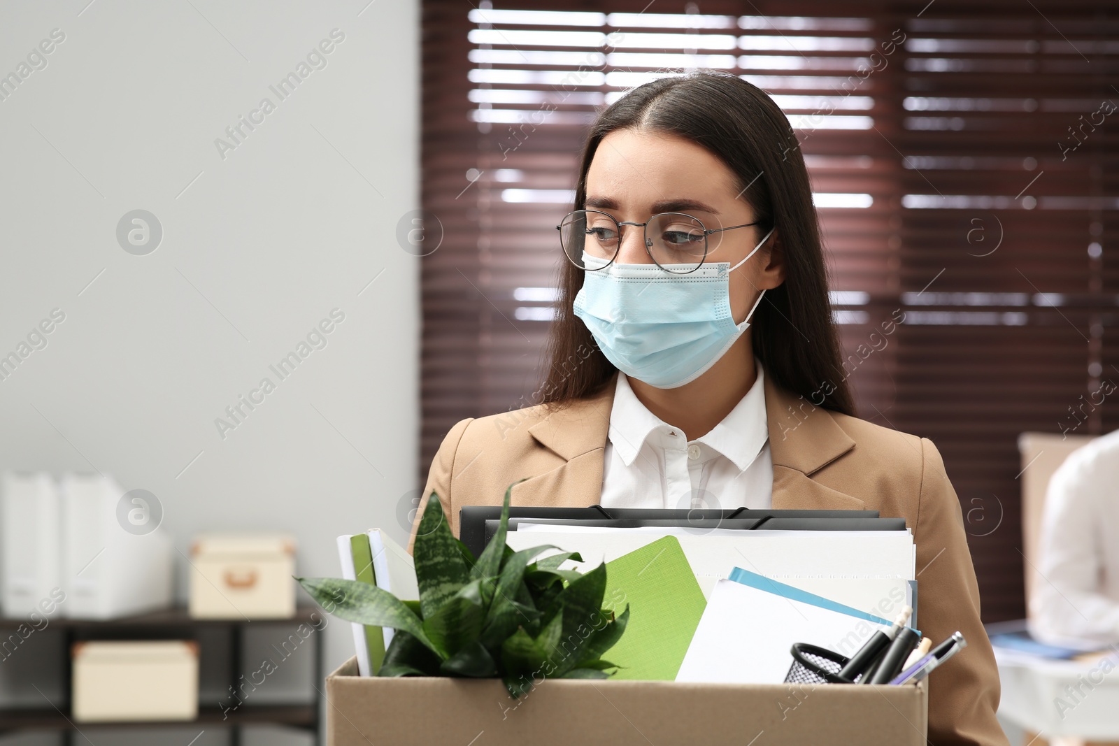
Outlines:
POLYGON ((673 681, 684 662, 707 601, 680 541, 666 536, 606 563, 602 605, 629 624, 602 657, 617 663, 613 679, 673 681))

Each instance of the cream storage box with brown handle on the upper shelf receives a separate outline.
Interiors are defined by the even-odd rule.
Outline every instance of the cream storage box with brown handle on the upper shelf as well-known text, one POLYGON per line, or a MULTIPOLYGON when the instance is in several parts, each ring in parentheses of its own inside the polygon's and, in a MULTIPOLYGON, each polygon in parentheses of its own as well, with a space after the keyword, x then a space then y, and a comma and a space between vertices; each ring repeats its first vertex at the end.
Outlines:
POLYGON ((295 540, 282 535, 199 536, 190 550, 195 618, 290 618, 295 540))

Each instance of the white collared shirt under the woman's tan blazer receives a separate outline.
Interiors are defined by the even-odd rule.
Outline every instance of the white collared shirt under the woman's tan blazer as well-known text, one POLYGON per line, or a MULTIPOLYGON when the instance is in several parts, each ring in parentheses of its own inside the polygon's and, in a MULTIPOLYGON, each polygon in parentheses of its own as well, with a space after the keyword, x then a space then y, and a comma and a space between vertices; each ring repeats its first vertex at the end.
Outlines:
POLYGON ((649 412, 626 374, 619 372, 602 470, 602 507, 771 507, 773 462, 764 374, 760 363, 756 369, 758 379, 730 414, 692 441, 649 412))

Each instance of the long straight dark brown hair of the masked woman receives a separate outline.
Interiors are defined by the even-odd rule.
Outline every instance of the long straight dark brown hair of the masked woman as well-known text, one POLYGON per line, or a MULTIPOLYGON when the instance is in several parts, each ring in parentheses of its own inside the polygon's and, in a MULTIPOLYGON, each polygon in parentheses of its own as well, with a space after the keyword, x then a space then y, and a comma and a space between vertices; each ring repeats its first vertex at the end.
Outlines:
MULTIPOLYGON (((734 173, 736 193, 753 207, 762 229, 777 227, 786 280, 765 293, 751 320, 754 355, 778 386, 817 406, 854 415, 808 171, 784 113, 761 88, 726 73, 699 70, 633 88, 591 125, 574 209, 583 207, 586 172, 599 143, 630 128, 670 133, 706 148, 734 173)), ((601 390, 617 370, 572 310, 583 271, 564 261, 558 285, 547 374, 538 393, 538 402, 552 406, 601 390)))

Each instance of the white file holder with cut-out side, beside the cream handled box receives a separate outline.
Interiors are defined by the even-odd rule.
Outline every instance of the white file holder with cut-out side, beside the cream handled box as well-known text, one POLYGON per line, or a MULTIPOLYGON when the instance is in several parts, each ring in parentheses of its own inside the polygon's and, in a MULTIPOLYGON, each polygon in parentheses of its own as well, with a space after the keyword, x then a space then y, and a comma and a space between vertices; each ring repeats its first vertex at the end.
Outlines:
POLYGON ((171 605, 171 539, 157 528, 131 533, 117 522, 124 491, 111 476, 62 479, 66 616, 107 620, 171 605))

